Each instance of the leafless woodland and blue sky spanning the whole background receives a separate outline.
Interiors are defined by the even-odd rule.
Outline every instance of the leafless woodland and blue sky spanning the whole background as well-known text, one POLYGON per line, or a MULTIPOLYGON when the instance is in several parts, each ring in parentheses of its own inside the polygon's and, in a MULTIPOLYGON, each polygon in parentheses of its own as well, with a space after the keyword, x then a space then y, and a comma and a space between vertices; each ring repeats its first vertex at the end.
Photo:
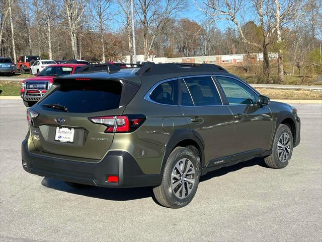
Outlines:
MULTIPOLYGON (((130 0, 0 0, 0 55, 133 60, 130 0)), ((322 0, 133 0, 137 54, 263 53, 259 78, 321 71, 322 0), (198 13, 198 14, 196 14, 198 13), (195 20, 198 16, 198 20, 195 20)), ((246 65, 246 70, 248 70, 246 65)))

